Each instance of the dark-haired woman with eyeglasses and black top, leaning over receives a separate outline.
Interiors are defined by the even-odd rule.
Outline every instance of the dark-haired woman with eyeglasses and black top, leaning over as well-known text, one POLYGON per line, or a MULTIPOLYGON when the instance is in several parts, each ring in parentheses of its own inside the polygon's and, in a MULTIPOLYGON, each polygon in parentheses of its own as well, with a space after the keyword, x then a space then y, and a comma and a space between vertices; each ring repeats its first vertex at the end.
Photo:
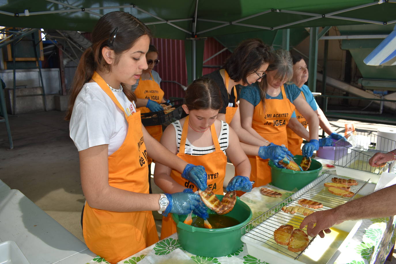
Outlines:
MULTIPOLYGON (((259 39, 248 39, 241 42, 234 52, 227 58, 223 68, 206 74, 219 86, 223 107, 217 119, 230 124, 238 135, 242 149, 247 155, 258 156, 262 159, 271 159, 278 163, 287 154, 287 149, 270 144, 270 139, 248 131, 241 126, 241 116, 238 107, 239 87, 261 82, 265 70, 272 61, 269 47, 259 39)), ((258 185, 256 182, 254 185, 258 185)), ((242 193, 238 193, 241 195, 242 193)))

